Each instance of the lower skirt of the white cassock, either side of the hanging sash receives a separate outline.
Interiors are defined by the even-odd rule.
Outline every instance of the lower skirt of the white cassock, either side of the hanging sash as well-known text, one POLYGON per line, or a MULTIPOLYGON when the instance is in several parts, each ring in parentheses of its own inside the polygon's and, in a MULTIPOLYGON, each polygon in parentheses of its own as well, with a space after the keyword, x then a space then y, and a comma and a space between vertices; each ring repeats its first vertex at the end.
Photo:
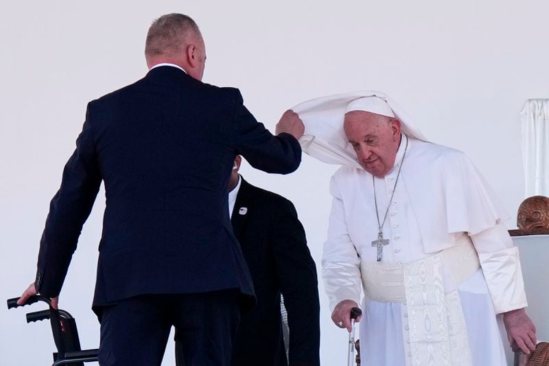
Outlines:
MULTIPOLYGON (((456 299, 459 299, 463 312, 472 365, 506 366, 504 346, 498 328, 501 320, 496 318, 493 311, 482 270, 478 270, 465 283, 458 286, 458 290, 452 295, 447 294, 445 302, 455 307, 456 299)), ((368 366, 413 366, 412 345, 406 330, 406 327, 410 329, 408 306, 364 299, 362 312, 358 338, 363 362, 368 366)), ((453 325, 456 321, 452 318, 447 323, 452 324, 448 328, 451 334, 454 334, 456 329, 462 329, 453 325)), ((460 350, 460 347, 456 345, 454 350, 460 350)), ((459 358, 456 359, 459 361, 459 358)))

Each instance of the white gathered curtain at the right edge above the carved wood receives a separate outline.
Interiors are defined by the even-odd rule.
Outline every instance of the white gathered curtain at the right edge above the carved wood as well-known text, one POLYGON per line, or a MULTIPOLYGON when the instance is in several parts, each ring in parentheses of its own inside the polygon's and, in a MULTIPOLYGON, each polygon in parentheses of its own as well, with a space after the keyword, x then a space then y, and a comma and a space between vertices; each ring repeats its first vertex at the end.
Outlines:
POLYGON ((526 197, 549 196, 549 99, 527 100, 521 116, 526 197))

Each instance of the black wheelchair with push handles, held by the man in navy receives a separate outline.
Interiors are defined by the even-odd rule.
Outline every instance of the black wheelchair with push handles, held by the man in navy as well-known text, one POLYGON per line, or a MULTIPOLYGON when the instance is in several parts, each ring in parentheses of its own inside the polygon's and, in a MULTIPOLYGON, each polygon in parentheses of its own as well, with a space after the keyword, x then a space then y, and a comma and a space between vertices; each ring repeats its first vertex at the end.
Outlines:
POLYGON ((35 304, 38 301, 43 301, 48 305, 47 310, 29 312, 27 314, 27 323, 49 319, 51 332, 54 334, 57 347, 57 352, 54 353, 53 366, 84 366, 85 362, 97 361, 98 350, 82 350, 80 348, 76 321, 71 314, 65 310, 51 307, 51 301, 46 297, 31 296, 23 305, 17 305, 18 300, 19 297, 8 299, 8 309, 35 304))

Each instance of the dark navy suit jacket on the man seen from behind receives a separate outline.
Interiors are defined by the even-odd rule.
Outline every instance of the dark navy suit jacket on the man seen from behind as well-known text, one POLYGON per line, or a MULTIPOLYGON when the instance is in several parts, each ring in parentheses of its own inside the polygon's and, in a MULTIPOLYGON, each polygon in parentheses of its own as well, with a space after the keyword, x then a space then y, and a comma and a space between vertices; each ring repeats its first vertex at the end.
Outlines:
POLYGON ((227 190, 235 155, 254 168, 290 173, 294 137, 274 137, 237 89, 218 88, 163 66, 90 102, 40 241, 36 288, 59 294, 101 181, 106 209, 94 308, 144 294, 253 283, 233 234, 227 190))

